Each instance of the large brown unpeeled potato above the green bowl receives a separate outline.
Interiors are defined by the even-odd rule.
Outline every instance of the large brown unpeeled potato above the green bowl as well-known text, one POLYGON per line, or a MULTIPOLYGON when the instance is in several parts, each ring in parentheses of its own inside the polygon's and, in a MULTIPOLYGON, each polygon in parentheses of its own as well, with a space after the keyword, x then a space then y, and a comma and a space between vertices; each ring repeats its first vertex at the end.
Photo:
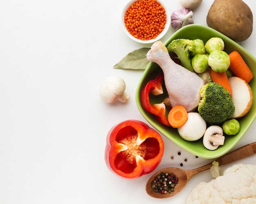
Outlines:
POLYGON ((252 34, 253 14, 242 0, 214 0, 206 20, 209 27, 235 42, 244 41, 252 34))

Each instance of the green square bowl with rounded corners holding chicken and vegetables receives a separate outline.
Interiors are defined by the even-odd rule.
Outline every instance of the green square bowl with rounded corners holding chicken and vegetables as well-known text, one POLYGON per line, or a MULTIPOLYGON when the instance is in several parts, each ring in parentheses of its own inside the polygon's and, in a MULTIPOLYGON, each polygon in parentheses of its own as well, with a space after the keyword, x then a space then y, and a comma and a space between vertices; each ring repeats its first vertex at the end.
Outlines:
MULTIPOLYGON (((225 42, 224 51, 226 51, 227 53, 231 53, 234 50, 238 51, 240 55, 242 55, 247 65, 252 69, 254 76, 256 76, 256 68, 255 68, 256 58, 253 55, 251 55, 249 52, 247 52, 247 50, 245 50, 242 46, 234 42, 233 40, 229 39, 222 33, 219 33, 218 31, 215 31, 207 26, 196 25, 196 24, 184 26, 182 29, 179 29, 178 31, 176 31, 165 42, 165 45, 167 46, 173 39, 178 39, 178 38, 184 38, 184 39, 199 38, 199 39, 202 39, 204 43, 206 43, 207 40, 210 39, 211 37, 222 38, 223 41, 225 42)), ((252 123, 256 118, 256 106, 253 104, 251 110, 245 116, 238 119, 240 123, 240 132, 235 136, 225 136, 225 144, 218 147, 218 149, 214 151, 208 150, 204 147, 202 143, 202 138, 193 142, 186 141, 180 137, 180 135, 177 132, 177 129, 160 124, 158 121, 156 121, 155 116, 146 112, 141 105, 140 93, 142 88, 146 85, 148 81, 150 81, 151 79, 154 79, 159 73, 162 73, 161 68, 159 68, 157 64, 150 62, 150 64, 144 71, 144 74, 141 77, 136 90, 137 107, 139 108, 139 111, 144 116, 144 118, 153 127, 155 127, 155 129, 157 129, 164 136, 166 136, 168 139, 173 141, 173 143, 175 143, 176 145, 182 147, 186 151, 189 151, 190 153, 196 156, 199 156, 202 158, 218 158, 223 154, 227 153, 245 135, 245 133, 247 132, 247 130, 249 129, 249 127, 252 125, 252 123)), ((249 85, 252 88, 252 92, 256 93, 255 79, 252 79, 252 81, 249 82, 249 85)), ((166 90, 164 91, 164 94, 162 94, 161 96, 151 97, 150 102, 152 104, 161 103, 165 97, 167 97, 166 90)))

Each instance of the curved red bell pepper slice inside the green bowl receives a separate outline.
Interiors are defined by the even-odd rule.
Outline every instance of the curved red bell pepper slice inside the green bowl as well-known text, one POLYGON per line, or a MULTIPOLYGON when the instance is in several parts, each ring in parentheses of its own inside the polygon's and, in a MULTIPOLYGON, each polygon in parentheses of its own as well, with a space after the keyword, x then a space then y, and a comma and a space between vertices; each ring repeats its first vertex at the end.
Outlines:
POLYGON ((158 75, 155 79, 150 80, 141 90, 141 105, 147 111, 155 115, 157 121, 160 123, 171 126, 166 117, 166 106, 163 103, 151 105, 149 100, 149 93, 155 96, 163 94, 162 81, 164 74, 158 75))

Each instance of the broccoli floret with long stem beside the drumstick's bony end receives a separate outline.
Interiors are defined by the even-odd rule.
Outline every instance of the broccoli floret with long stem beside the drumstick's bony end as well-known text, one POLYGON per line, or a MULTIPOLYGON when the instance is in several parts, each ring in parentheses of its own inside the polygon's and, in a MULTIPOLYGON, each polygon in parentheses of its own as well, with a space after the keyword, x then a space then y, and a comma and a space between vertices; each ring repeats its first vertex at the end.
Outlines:
POLYGON ((182 38, 174 39, 171 41, 170 44, 168 44, 166 48, 169 53, 176 53, 182 65, 186 69, 190 70, 191 72, 194 72, 189 58, 189 52, 195 51, 196 49, 196 44, 193 40, 182 38))

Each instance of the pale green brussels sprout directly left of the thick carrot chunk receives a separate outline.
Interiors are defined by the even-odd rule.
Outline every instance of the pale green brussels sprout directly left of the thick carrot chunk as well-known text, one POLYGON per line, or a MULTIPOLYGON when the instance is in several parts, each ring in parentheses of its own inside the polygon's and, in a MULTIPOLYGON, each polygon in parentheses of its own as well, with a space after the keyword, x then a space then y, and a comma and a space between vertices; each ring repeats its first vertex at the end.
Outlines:
POLYGON ((225 72, 229 68, 230 58, 224 51, 213 51, 208 57, 208 64, 216 72, 225 72))

